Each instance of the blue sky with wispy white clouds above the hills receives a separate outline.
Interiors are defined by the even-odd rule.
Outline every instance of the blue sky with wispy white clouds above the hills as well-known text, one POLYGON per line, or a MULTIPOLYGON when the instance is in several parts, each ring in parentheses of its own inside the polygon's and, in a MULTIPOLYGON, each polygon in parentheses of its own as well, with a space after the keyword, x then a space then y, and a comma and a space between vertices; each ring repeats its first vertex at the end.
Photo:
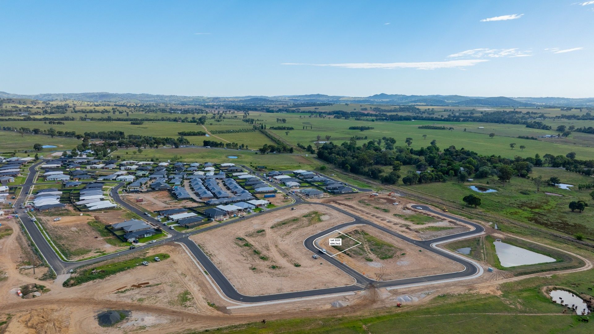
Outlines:
POLYGON ((0 1, 0 12, 10 93, 594 96, 588 0, 0 1))

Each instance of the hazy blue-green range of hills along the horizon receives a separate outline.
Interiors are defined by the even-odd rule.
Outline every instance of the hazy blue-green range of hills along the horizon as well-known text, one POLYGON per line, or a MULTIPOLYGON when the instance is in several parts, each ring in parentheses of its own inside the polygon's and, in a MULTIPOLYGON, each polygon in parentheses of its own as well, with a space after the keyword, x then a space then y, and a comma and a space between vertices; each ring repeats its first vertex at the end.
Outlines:
POLYGON ((536 106, 587 107, 594 106, 594 97, 570 99, 567 97, 481 97, 462 95, 404 95, 374 94, 365 97, 336 96, 326 94, 279 95, 279 96, 232 96, 206 97, 183 95, 156 95, 135 93, 45 93, 45 94, 12 94, 0 92, 0 99, 34 99, 34 100, 78 100, 87 102, 113 103, 172 103, 181 105, 200 105, 204 103, 239 103, 286 104, 286 103, 369 103, 386 105, 426 105, 426 106, 486 106, 499 108, 519 108, 536 106))

